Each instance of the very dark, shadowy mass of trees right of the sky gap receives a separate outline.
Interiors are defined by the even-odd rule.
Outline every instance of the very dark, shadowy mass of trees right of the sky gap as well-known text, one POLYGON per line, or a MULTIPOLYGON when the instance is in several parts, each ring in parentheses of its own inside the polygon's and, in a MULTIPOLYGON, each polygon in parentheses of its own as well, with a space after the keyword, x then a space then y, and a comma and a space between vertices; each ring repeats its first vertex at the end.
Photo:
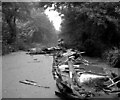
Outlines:
POLYGON ((77 45, 87 55, 99 57, 106 49, 119 46, 120 12, 117 10, 120 7, 117 3, 69 3, 67 6, 61 34, 66 44, 77 45))

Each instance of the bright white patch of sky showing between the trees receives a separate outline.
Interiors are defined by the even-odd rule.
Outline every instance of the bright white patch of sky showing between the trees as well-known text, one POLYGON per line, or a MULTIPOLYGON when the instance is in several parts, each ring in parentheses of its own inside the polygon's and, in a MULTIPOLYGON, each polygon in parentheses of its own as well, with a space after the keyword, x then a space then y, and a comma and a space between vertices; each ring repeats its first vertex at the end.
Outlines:
POLYGON ((45 14, 48 15, 49 17, 49 20, 51 22, 53 22, 53 26, 55 27, 55 29, 57 31, 60 31, 60 27, 61 27, 61 22, 62 22, 62 19, 61 17, 59 16, 59 13, 57 11, 54 11, 54 10, 50 10, 50 9, 53 9, 53 7, 49 7, 45 10, 45 14))

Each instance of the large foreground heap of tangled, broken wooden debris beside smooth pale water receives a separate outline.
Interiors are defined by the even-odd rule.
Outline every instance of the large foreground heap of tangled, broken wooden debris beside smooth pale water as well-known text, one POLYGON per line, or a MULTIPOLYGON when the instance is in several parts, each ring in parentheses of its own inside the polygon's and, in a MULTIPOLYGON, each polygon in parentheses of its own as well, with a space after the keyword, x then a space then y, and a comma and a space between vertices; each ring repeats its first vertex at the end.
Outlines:
POLYGON ((93 66, 76 50, 56 53, 52 74, 58 88, 55 94, 63 98, 91 99, 120 94, 120 76, 93 66))

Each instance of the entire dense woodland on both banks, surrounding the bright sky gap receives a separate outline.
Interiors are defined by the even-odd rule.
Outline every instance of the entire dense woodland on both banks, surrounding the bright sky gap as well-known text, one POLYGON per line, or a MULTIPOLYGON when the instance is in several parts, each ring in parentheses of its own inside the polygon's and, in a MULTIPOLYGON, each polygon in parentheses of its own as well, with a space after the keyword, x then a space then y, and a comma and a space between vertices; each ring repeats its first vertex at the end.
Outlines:
MULTIPOLYGON (((2 53, 26 50, 35 44, 55 45, 63 38, 66 48, 101 57, 111 66, 120 64, 119 2, 4 2, 2 3, 2 53), (44 10, 54 4, 63 18, 56 35, 44 10)), ((52 46, 51 45, 51 46, 52 46)))

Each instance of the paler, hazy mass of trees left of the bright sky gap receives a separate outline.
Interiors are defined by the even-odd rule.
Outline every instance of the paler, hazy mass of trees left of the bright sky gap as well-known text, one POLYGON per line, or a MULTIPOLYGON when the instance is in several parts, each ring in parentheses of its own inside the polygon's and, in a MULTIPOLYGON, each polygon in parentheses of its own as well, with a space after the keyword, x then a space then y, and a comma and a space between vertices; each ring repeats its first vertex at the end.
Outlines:
POLYGON ((39 3, 2 3, 2 54, 56 43, 55 29, 39 3))

